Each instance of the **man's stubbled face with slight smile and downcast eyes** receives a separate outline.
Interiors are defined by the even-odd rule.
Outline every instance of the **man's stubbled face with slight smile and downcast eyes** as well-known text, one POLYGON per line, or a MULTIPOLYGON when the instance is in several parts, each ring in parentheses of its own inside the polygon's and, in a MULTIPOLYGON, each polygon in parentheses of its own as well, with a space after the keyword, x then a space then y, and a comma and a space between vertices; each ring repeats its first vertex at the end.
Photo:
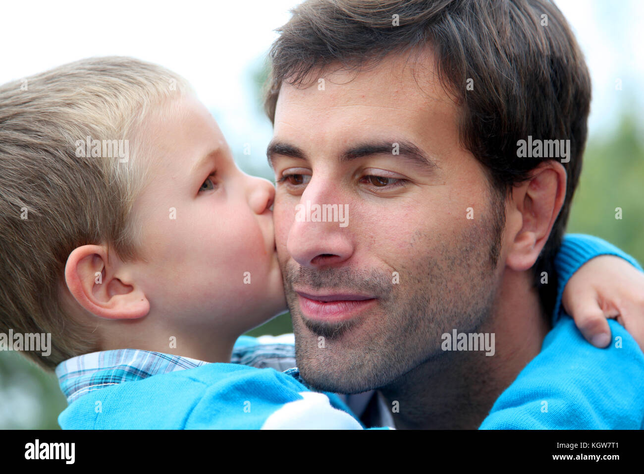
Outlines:
POLYGON ((298 367, 323 390, 379 388, 440 355, 442 333, 486 319, 503 267, 503 201, 459 144, 431 56, 415 75, 405 59, 279 93, 276 245, 298 367), (348 205, 346 226, 298 213, 307 201, 348 205))

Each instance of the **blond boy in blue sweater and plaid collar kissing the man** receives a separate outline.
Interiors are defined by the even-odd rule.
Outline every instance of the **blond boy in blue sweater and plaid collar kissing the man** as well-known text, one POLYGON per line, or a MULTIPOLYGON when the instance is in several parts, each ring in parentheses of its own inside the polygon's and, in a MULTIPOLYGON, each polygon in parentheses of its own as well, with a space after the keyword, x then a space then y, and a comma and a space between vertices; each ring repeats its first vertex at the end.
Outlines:
POLYGON ((5 84, 0 163, 0 328, 52 334, 28 355, 56 368, 62 428, 363 427, 336 395, 229 363, 285 309, 274 188, 184 79, 111 57, 5 84))

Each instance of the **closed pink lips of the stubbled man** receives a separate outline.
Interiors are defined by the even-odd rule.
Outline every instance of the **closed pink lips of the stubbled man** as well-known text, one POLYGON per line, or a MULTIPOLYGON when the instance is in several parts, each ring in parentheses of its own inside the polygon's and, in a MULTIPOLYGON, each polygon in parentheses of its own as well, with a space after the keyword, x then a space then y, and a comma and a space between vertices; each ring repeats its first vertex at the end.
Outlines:
POLYGON ((375 302, 372 296, 352 293, 296 293, 304 317, 317 321, 340 322, 352 319, 375 302))

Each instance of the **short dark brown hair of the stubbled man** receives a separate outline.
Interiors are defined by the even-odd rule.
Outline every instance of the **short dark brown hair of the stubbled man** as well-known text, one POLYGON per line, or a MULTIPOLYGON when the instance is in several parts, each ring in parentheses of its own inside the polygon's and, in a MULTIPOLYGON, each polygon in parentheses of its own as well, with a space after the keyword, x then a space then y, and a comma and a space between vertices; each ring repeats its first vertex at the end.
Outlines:
POLYGON ((502 197, 550 159, 518 157, 518 141, 570 140, 565 202, 533 266, 535 284, 542 272, 549 277, 538 287, 549 315, 591 100, 583 55, 560 10, 547 0, 307 0, 292 14, 269 54, 271 121, 284 81, 306 85, 332 68, 357 72, 389 54, 430 47, 460 107, 460 140, 502 197))

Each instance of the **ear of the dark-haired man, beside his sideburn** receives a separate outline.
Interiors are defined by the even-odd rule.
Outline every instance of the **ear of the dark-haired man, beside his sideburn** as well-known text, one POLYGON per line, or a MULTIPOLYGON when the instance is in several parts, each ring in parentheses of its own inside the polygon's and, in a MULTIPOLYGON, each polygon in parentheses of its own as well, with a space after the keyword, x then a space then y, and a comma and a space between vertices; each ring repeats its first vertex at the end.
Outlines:
POLYGON ((506 266, 522 272, 535 264, 564 205, 565 188, 565 168, 554 160, 539 164, 513 188, 507 212, 506 229, 511 234, 506 266))

